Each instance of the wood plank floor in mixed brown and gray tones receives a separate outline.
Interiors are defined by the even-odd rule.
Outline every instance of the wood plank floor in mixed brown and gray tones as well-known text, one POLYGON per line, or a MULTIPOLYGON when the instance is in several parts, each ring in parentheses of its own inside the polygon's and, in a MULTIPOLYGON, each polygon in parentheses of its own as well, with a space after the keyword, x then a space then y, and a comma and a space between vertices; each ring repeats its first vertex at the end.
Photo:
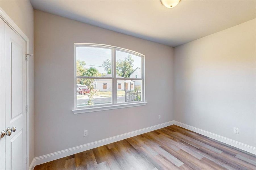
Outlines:
POLYGON ((256 169, 256 156, 176 125, 47 162, 34 170, 256 169))

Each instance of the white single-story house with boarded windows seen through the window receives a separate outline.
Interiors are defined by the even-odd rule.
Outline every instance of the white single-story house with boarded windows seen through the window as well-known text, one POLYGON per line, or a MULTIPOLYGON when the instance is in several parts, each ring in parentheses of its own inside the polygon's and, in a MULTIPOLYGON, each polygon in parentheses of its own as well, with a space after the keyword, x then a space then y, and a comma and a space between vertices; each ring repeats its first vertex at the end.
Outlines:
MULTIPOLYGON (((107 74, 103 77, 111 77, 107 74)), ((117 78, 123 78, 122 76, 116 76, 117 78)), ((112 90, 112 80, 111 79, 96 79, 94 82, 95 89, 99 91, 111 91, 112 90)), ((134 90, 135 81, 133 80, 117 80, 116 89, 117 91, 122 90, 134 90)))

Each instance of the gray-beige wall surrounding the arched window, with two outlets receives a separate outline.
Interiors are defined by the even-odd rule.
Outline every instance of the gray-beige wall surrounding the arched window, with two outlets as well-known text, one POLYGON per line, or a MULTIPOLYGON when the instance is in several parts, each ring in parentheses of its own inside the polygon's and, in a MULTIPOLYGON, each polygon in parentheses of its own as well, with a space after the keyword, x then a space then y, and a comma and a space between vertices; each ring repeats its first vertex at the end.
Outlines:
POLYGON ((34 18, 35 157, 173 120, 172 47, 38 10, 34 18), (74 42, 144 54, 147 105, 73 114, 74 42))

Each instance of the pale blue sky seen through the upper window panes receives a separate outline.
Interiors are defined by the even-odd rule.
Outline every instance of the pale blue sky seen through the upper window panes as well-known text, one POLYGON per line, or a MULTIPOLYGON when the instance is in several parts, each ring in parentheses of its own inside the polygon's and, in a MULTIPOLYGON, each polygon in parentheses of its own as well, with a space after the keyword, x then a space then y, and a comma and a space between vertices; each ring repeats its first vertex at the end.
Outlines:
MULTIPOLYGON (((116 59, 124 60, 129 54, 122 51, 116 51, 116 59)), ((132 55, 132 54, 131 54, 132 55)), ((77 47, 76 48, 76 59, 83 60, 86 62, 85 67, 95 67, 100 73, 106 73, 102 67, 102 63, 106 59, 111 60, 111 50, 106 48, 94 48, 94 47, 77 47)), ((134 59, 134 69, 141 67, 141 58, 135 55, 132 55, 134 59)))

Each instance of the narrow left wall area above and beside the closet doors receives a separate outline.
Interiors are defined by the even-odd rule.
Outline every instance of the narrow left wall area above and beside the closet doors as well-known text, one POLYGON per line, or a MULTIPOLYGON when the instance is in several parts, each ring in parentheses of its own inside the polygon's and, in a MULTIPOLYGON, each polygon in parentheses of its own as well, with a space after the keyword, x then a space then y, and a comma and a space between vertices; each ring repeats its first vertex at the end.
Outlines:
MULTIPOLYGON (((29 38, 29 54, 34 53, 34 10, 29 0, 0 0, 0 7, 29 38)), ((34 57, 29 58, 29 164, 34 158, 34 57)))

